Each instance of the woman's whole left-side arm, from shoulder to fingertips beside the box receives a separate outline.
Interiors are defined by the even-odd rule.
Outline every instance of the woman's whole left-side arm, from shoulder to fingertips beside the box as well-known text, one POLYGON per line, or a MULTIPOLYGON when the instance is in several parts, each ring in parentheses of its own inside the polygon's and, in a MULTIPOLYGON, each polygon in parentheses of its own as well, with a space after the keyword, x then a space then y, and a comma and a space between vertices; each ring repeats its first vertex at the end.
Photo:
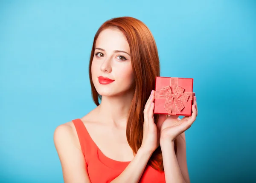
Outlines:
MULTIPOLYGON (((111 183, 138 183, 144 169, 159 146, 159 131, 154 123, 154 91, 151 92, 143 111, 143 140, 137 154, 125 170, 111 183)), ((71 125, 62 124, 55 129, 54 143, 57 149, 65 183, 90 183, 84 155, 71 125)))

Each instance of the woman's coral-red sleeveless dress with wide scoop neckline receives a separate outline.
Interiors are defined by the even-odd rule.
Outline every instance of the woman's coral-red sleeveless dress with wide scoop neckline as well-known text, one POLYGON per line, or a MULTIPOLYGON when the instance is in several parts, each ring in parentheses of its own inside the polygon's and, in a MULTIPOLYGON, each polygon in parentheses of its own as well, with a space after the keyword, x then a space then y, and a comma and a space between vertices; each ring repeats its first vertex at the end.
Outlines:
MULTIPOLYGON (((76 127, 91 183, 109 183, 118 177, 130 161, 116 161, 105 156, 90 137, 81 119, 72 121, 76 127)), ((164 172, 159 172, 151 166, 146 166, 139 182, 165 183, 164 172)))

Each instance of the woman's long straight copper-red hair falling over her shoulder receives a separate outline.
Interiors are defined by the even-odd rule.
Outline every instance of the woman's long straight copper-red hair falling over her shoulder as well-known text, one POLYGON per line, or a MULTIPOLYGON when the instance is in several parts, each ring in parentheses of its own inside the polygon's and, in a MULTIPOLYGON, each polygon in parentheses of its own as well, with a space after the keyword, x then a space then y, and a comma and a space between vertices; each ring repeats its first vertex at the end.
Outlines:
MULTIPOLYGON (((131 64, 134 72, 134 98, 132 99, 127 119, 126 136, 128 144, 134 154, 142 144, 143 139, 143 110, 145 103, 154 90, 156 76, 160 76, 160 62, 157 52, 157 45, 151 31, 140 20, 133 17, 117 17, 103 23, 93 40, 93 48, 90 55, 89 75, 92 88, 93 101, 98 106, 102 96, 97 93, 92 80, 91 65, 93 61, 96 40, 101 31, 106 28, 117 28, 128 40, 131 52, 131 64)), ((154 115, 157 123, 159 115, 154 115)), ((176 152, 175 143, 175 152, 176 152)), ((154 151, 148 164, 154 169, 163 171, 163 157, 160 146, 154 151)))

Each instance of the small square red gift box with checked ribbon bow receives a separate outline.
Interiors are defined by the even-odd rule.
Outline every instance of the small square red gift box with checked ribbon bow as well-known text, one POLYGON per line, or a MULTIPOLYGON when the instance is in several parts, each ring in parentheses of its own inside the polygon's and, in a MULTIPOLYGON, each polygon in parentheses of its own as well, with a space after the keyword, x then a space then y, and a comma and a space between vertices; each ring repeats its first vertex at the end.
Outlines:
POLYGON ((154 114, 192 115, 193 79, 156 77, 154 114))

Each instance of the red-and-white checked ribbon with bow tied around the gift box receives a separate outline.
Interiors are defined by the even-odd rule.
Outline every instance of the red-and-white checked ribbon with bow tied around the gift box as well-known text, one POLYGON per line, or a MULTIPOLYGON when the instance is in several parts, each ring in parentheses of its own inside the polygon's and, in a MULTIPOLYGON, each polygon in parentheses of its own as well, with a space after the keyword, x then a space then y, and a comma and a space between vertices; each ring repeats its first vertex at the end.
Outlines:
POLYGON ((193 99, 192 92, 184 92, 184 88, 178 86, 179 78, 170 78, 170 85, 163 87, 160 91, 155 91, 155 99, 166 99, 164 109, 169 115, 176 115, 177 110, 184 108, 183 102, 193 99))

